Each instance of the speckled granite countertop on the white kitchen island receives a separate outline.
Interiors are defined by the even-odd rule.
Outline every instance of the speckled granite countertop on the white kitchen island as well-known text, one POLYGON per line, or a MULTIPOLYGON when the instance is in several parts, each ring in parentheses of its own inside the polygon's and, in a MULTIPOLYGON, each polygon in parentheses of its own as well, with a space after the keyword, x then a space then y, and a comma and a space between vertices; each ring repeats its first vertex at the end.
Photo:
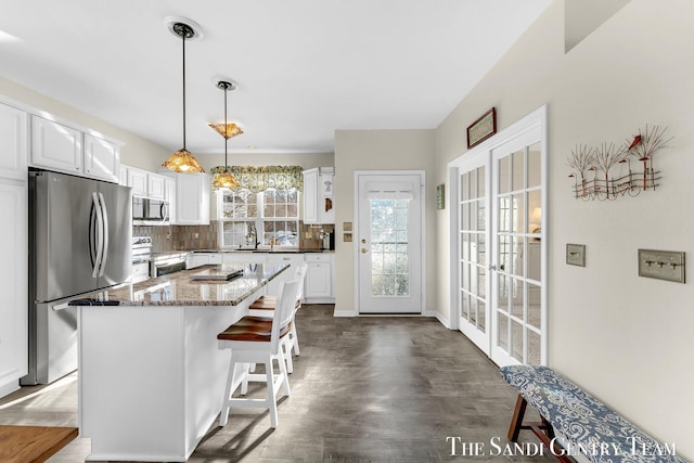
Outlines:
POLYGON ((287 263, 202 266, 140 283, 125 284, 72 300, 72 306, 236 306, 285 271, 287 263), (194 281, 191 275, 208 269, 239 270, 243 275, 229 281, 194 281))

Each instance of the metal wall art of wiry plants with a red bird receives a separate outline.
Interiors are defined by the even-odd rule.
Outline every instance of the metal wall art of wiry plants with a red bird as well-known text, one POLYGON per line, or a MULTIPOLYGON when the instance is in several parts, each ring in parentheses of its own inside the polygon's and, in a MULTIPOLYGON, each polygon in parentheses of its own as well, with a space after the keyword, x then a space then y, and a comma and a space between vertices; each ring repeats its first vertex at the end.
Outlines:
POLYGON ((666 130, 667 127, 648 129, 646 126, 620 146, 614 143, 602 143, 596 147, 576 145, 567 158, 568 166, 574 169, 569 176, 574 179, 574 197, 604 201, 655 190, 660 171, 653 167, 653 155, 673 139, 665 138, 666 130))

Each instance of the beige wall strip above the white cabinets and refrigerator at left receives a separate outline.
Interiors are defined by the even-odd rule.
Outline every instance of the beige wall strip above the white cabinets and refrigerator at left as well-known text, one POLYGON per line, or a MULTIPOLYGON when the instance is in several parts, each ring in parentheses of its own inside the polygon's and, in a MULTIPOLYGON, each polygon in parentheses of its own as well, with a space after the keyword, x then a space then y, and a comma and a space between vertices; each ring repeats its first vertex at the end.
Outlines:
POLYGON ((160 164, 170 156, 170 152, 164 146, 2 77, 0 77, 0 95, 125 143, 120 150, 123 164, 156 171, 160 164))

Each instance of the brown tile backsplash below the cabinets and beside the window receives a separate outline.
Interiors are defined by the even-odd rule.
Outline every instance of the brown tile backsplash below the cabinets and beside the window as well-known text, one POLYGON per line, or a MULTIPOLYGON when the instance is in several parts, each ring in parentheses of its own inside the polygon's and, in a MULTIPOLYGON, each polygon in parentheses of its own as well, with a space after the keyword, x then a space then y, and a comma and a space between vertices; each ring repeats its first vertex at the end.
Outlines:
MULTIPOLYGON (((299 247, 303 249, 321 248, 321 229, 331 233, 335 227, 299 226, 299 247)), ((151 236, 152 252, 166 253, 170 250, 217 249, 219 248, 219 221, 213 220, 209 226, 133 226, 133 236, 151 236)))

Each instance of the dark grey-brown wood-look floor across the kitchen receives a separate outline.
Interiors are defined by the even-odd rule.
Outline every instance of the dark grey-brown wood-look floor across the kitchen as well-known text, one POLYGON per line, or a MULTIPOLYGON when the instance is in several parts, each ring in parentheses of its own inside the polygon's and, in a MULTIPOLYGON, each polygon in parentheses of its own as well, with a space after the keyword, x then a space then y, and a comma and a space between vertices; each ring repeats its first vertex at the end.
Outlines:
MULTIPOLYGON (((526 455, 504 452, 513 389, 460 332, 435 319, 334 318, 332 306, 306 305, 297 329, 301 356, 292 396, 280 400, 279 427, 270 427, 267 410, 232 409, 190 462, 554 461, 527 455, 537 442, 529 432, 520 438, 532 442, 526 455)), ((249 394, 264 393, 252 386, 249 394)), ((1 399, 0 424, 77 426, 76 411, 73 374, 1 399)), ((89 451, 78 438, 49 462, 82 462, 89 451)))

